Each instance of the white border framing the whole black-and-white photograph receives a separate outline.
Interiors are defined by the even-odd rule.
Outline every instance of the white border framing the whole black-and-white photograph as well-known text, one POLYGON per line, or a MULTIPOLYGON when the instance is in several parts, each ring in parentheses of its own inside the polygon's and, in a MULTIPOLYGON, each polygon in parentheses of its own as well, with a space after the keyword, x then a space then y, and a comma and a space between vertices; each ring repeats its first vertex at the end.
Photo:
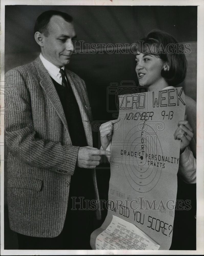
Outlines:
MULTIPOLYGON (((5 5, 151 5, 151 6, 197 6, 198 8, 198 30, 197 30, 197 250, 196 251, 135 251, 129 250, 128 254, 135 255, 199 255, 204 254, 204 2, 202 0, 194 1, 176 1, 176 0, 1 0, 1 87, 4 86, 4 39, 5 39, 5 5)), ((4 107, 4 95, 1 93, 1 108, 4 107)), ((1 115, 1 255, 103 255, 103 254, 126 254, 127 251, 111 250, 4 250, 4 115, 1 115)))

